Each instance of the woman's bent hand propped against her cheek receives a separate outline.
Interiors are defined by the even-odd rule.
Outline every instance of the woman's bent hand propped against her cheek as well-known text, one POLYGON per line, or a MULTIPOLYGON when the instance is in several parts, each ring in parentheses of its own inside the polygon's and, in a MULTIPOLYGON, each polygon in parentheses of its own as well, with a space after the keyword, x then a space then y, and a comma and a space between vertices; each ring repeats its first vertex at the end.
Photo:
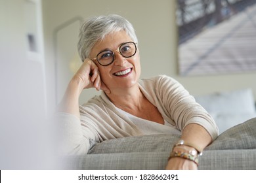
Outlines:
POLYGON ((108 87, 100 79, 100 72, 96 64, 91 59, 85 59, 83 64, 75 73, 72 81, 77 82, 79 87, 79 93, 85 88, 96 88, 96 90, 104 90, 106 93, 110 93, 108 87))

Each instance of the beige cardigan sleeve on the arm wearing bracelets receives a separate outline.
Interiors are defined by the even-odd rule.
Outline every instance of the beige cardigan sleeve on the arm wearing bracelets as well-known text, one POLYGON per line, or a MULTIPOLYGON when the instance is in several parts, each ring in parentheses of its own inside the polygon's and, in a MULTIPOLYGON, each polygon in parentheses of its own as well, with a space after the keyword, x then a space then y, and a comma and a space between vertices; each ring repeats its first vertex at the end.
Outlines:
POLYGON ((213 118, 177 80, 161 75, 156 81, 156 90, 162 105, 178 129, 182 131, 188 124, 199 124, 208 131, 213 140, 217 138, 218 127, 213 118))

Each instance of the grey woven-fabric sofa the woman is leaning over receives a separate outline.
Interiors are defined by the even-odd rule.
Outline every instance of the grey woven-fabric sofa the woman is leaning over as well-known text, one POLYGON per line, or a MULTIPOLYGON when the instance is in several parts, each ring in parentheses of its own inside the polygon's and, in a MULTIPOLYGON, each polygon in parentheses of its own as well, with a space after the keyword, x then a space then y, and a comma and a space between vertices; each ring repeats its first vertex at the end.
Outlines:
MULTIPOLYGON (((67 169, 165 169, 177 135, 145 135, 91 142, 89 154, 69 157, 67 169)), ((231 127, 207 146, 198 169, 256 169, 256 118, 231 127)))

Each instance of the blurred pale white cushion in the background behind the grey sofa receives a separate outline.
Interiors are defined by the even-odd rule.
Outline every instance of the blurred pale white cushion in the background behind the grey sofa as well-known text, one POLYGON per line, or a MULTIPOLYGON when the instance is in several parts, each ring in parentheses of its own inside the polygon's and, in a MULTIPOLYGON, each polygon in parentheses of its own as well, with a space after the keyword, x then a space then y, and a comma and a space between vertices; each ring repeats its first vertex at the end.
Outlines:
POLYGON ((256 117, 255 100, 251 89, 210 93, 195 97, 196 101, 213 116, 219 133, 245 120, 256 117))

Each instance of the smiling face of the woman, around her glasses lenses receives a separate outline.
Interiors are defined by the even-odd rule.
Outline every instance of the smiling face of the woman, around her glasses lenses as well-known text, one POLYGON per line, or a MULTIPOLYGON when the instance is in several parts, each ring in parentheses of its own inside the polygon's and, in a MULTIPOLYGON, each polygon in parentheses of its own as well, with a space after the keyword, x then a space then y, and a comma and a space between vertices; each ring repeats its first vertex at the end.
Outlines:
MULTIPOLYGON (((132 41, 131 37, 125 31, 119 31, 106 35, 103 41, 96 42, 91 50, 90 57, 96 58, 96 55, 102 50, 119 50, 119 46, 125 42, 132 41)), ((135 42, 136 43, 136 42, 135 42)), ((132 88, 137 86, 140 78, 140 56, 139 50, 131 58, 124 58, 118 51, 114 52, 114 61, 107 66, 100 65, 95 61, 100 71, 100 78, 111 92, 132 88), (123 72, 125 71, 125 72, 123 72)))

